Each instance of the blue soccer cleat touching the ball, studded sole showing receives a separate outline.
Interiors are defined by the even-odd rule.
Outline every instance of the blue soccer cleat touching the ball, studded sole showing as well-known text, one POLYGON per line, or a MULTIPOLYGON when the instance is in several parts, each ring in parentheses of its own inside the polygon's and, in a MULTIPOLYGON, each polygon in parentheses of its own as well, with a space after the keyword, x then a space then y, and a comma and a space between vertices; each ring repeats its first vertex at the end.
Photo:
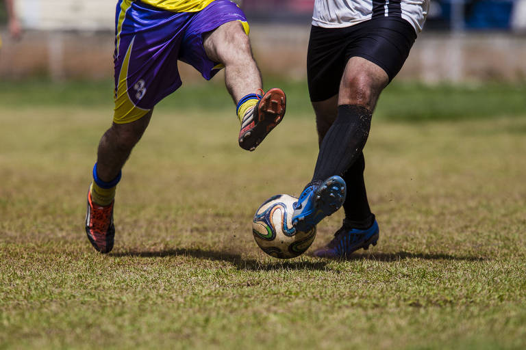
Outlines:
POLYGON ((342 206, 346 193, 345 181, 340 176, 331 176, 320 185, 303 189, 293 205, 292 225, 299 231, 311 230, 342 206))

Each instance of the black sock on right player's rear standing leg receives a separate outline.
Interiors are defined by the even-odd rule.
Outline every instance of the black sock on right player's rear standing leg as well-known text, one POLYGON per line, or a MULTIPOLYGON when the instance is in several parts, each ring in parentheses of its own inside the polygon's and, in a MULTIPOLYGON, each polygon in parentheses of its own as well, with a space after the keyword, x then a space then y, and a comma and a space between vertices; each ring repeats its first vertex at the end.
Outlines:
POLYGON ((364 170, 364 154, 360 152, 356 161, 342 176, 347 184, 347 197, 343 203, 345 219, 352 222, 353 228, 360 230, 369 228, 374 221, 365 190, 364 170))

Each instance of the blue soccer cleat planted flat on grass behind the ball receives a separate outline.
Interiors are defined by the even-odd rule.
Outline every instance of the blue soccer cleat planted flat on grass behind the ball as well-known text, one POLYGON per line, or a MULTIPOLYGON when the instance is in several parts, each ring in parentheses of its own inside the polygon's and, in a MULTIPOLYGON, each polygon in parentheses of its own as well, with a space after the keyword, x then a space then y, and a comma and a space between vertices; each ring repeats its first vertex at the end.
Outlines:
POLYGON ((350 228, 343 220, 343 226, 334 234, 334 239, 318 250, 314 251, 314 256, 319 258, 347 258, 352 252, 364 248, 369 249, 369 245, 376 245, 380 230, 375 220, 373 225, 367 230, 350 228))

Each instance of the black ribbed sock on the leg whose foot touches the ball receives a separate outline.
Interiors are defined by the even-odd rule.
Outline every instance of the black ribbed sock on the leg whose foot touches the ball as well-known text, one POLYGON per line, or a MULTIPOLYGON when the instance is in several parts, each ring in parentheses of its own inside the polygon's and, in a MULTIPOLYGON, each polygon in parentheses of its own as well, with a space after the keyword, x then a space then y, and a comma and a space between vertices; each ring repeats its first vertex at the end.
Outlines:
POLYGON ((323 138, 312 182, 342 176, 360 157, 371 129, 371 111, 359 105, 338 106, 338 117, 323 138))

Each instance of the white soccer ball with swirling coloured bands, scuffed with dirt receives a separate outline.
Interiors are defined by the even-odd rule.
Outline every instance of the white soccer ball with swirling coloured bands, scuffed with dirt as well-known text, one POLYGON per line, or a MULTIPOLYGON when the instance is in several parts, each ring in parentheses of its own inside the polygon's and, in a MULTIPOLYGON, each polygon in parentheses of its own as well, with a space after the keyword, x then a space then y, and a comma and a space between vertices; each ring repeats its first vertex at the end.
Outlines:
POLYGON ((316 226, 308 232, 292 226, 292 204, 298 198, 278 194, 268 198, 255 212, 252 233, 266 254, 280 259, 295 258, 308 250, 316 237, 316 226))

